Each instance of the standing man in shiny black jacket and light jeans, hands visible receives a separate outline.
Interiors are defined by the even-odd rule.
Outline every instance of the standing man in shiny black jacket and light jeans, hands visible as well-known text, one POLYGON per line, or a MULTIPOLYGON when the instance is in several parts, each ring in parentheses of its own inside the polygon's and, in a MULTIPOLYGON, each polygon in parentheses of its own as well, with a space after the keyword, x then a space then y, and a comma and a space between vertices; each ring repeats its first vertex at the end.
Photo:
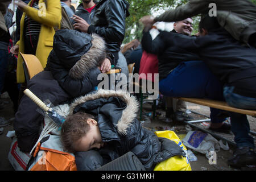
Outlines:
POLYGON ((125 18, 130 15, 129 3, 125 0, 101 0, 94 9, 95 13, 91 24, 74 15, 77 23, 73 26, 76 30, 88 34, 96 33, 105 39, 107 51, 110 54, 101 65, 103 73, 108 71, 111 65, 117 65, 122 69, 122 73, 127 75, 127 63, 119 51, 125 36, 125 18))

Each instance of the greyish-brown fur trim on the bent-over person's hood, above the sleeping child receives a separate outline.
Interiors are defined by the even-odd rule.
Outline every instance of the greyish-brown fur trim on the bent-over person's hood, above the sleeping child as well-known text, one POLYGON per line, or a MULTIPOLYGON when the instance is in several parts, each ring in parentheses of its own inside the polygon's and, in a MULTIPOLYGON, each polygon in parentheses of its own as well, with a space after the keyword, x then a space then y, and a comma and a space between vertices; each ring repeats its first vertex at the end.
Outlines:
POLYGON ((89 73, 90 69, 98 67, 106 57, 105 49, 105 41, 97 34, 92 34, 92 47, 69 70, 69 76, 79 79, 89 73))

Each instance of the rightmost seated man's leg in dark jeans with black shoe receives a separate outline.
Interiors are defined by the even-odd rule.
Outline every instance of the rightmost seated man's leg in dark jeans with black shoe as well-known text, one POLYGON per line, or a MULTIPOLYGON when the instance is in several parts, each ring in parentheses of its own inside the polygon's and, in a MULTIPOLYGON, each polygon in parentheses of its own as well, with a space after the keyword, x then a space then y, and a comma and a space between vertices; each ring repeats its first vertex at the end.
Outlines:
MULTIPOLYGON (((233 86, 224 87, 224 97, 228 105, 240 109, 256 110, 256 98, 250 98, 233 93, 233 86)), ((235 135, 237 150, 234 151, 232 158, 228 160, 230 166, 243 167, 256 164, 254 152, 254 138, 249 134, 250 125, 245 114, 230 112, 232 132, 235 135)))

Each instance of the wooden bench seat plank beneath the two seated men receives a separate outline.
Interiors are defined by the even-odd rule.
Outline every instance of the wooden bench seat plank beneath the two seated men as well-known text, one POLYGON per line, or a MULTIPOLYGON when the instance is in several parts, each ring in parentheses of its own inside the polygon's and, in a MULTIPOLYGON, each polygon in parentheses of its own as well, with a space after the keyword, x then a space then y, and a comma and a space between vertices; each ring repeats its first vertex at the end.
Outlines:
POLYGON ((241 114, 256 116, 256 110, 238 109, 236 107, 229 106, 224 101, 214 101, 214 100, 208 100, 205 98, 185 98, 185 97, 179 97, 177 99, 183 100, 186 102, 192 102, 192 103, 199 104, 199 105, 213 107, 216 109, 232 111, 234 113, 241 113, 241 114))

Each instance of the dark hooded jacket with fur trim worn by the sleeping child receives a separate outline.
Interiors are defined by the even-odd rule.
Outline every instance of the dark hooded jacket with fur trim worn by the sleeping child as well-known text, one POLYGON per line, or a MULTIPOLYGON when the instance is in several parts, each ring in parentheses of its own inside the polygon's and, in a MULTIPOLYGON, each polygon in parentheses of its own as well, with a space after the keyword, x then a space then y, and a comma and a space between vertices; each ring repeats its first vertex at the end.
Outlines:
POLYGON ((184 151, 175 142, 158 138, 141 126, 137 119, 138 109, 136 98, 122 90, 98 90, 69 105, 70 114, 84 111, 96 116, 102 141, 107 142, 108 148, 101 148, 100 154, 105 153, 111 160, 131 151, 146 169, 152 169, 156 163, 171 156, 184 156, 184 151))

